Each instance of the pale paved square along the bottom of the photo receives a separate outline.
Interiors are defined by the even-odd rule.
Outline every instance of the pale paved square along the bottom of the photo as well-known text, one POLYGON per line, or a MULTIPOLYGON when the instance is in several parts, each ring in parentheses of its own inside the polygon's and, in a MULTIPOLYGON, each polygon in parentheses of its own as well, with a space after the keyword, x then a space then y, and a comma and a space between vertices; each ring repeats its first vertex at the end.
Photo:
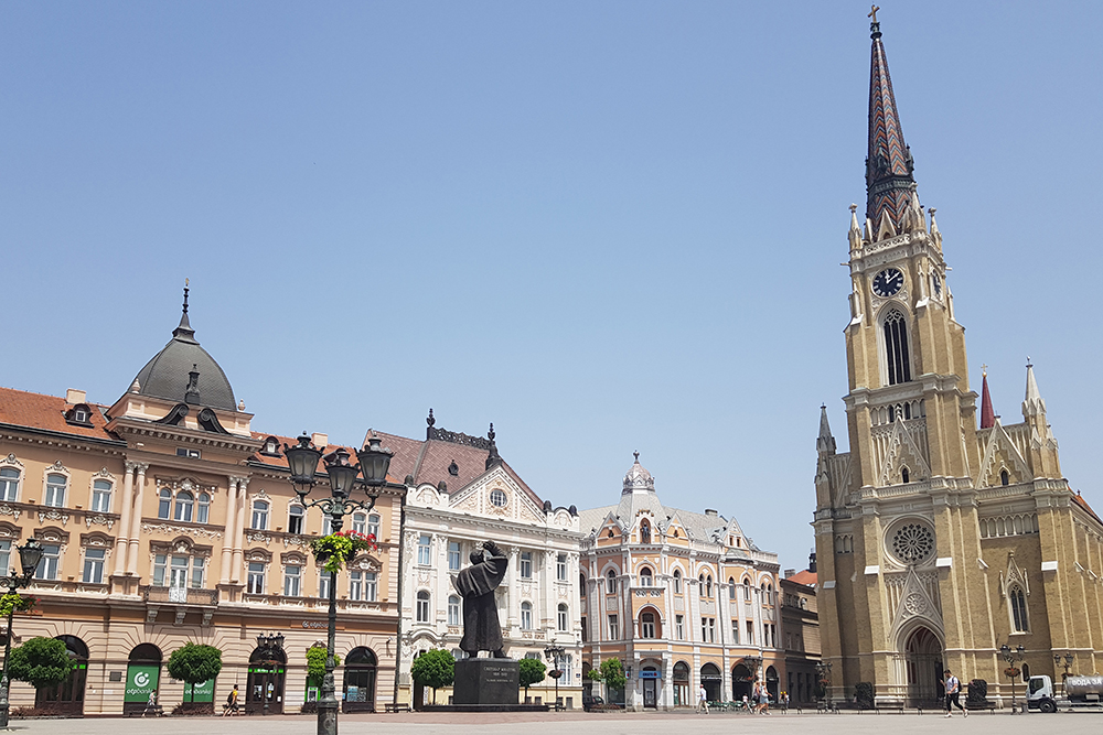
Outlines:
MULTIPOLYGON (((161 717, 84 720, 13 720, 10 731, 21 735, 313 735, 317 720, 306 715, 249 717, 161 717)), ((1061 735, 1099 735, 1103 733, 1103 712, 1011 715, 975 713, 967 720, 946 720, 939 713, 917 714, 781 714, 756 716, 747 714, 692 713, 615 713, 587 714, 507 713, 507 714, 355 714, 342 715, 340 735, 682 735, 689 728, 693 735, 724 733, 731 735, 772 735, 774 733, 811 732, 815 735, 893 735, 967 733, 968 735, 1039 735, 1060 732, 1061 735)))

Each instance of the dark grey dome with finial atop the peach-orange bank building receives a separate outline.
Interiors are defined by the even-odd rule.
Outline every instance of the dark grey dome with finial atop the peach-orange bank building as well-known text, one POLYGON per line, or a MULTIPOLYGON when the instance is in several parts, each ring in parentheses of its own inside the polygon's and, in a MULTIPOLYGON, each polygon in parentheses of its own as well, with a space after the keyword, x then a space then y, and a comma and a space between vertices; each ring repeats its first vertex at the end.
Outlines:
POLYGON ((138 394, 164 398, 181 403, 193 403, 215 409, 235 411, 234 389, 214 358, 200 347, 195 331, 188 322, 188 290, 184 289, 184 313, 180 325, 172 331, 172 339, 153 356, 135 378, 138 394), (194 366, 194 367, 193 367, 194 366), (199 398, 190 392, 189 374, 199 372, 199 398), (191 400, 188 400, 188 399, 191 400))

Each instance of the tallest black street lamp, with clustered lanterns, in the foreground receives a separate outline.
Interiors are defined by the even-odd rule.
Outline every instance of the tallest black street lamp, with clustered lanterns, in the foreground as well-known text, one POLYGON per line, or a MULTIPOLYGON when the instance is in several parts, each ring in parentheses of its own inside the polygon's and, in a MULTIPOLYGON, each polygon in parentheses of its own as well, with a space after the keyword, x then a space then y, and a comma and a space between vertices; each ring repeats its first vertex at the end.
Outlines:
MULTIPOLYGON (((381 488, 387 482, 387 468, 390 466, 390 458, 394 452, 381 446, 379 437, 374 432, 370 432, 367 446, 356 450, 356 458, 360 464, 350 464, 347 450, 338 448, 323 456, 319 450, 310 442, 310 437, 303 432, 298 439, 298 445, 283 445, 283 454, 287 456, 288 468, 291 471, 291 487, 299 496, 299 502, 304 508, 318 506, 330 519, 332 533, 336 533, 344 525, 344 517, 356 510, 371 512, 375 508, 375 501, 379 497, 381 488), (307 496, 314 488, 318 480, 318 462, 321 460, 325 464, 325 474, 330 479, 330 497, 307 500, 307 496), (356 490, 356 475, 363 474, 365 486, 365 500, 353 498, 356 490)), ((322 677, 322 696, 318 700, 318 735, 338 735, 338 709, 339 702, 335 696, 333 682, 333 669, 336 668, 333 659, 333 648, 336 638, 338 624, 338 575, 330 572, 330 606, 329 627, 325 642, 325 675, 322 677)))

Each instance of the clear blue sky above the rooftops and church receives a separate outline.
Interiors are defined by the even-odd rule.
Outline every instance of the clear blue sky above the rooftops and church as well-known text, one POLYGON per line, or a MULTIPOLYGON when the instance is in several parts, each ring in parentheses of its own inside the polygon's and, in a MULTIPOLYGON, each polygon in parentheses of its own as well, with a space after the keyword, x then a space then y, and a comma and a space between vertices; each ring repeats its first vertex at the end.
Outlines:
MULTIPOLYGON (((1095 457, 1103 4, 882 2, 970 379, 1095 457)), ((482 433, 556 505, 802 566, 845 445, 866 2, 0 4, 0 385, 111 403, 192 325, 260 431, 482 433), (375 338, 370 328, 381 329, 375 338)))

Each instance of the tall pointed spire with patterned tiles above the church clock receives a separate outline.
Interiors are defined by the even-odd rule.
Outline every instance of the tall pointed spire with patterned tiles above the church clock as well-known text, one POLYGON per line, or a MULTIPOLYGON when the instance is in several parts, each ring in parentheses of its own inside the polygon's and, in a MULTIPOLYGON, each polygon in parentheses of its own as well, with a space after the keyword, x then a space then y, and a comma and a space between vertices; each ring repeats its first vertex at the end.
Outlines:
POLYGON ((869 64, 869 149, 866 154, 866 219, 872 240, 892 237, 914 227, 913 210, 919 206, 914 163, 903 142, 897 112, 889 63, 881 44, 881 24, 874 6, 869 17, 872 55, 869 64))

